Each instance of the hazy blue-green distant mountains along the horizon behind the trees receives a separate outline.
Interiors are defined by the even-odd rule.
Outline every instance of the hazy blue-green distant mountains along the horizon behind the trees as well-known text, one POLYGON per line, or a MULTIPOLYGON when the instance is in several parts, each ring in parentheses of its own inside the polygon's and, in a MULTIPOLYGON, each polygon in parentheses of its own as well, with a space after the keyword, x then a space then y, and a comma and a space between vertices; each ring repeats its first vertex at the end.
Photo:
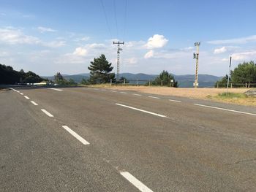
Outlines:
MULTIPOLYGON (((120 77, 125 77, 129 82, 135 83, 136 80, 154 80, 158 75, 157 74, 133 74, 133 73, 121 73, 120 77)), ((195 75, 194 74, 184 74, 184 75, 176 75, 173 74, 176 81, 178 81, 178 87, 179 88, 192 88, 193 83, 195 81, 195 75)), ((89 73, 82 73, 82 74, 63 74, 63 77, 67 80, 72 79, 75 80, 75 82, 81 82, 81 80, 84 78, 86 80, 89 79, 90 74, 89 73)), ((44 77, 48 78, 48 80, 54 80, 53 76, 44 77)), ((214 87, 215 82, 217 80, 220 80, 222 77, 217 77, 214 75, 209 74, 198 74, 198 84, 200 88, 211 88, 214 87)), ((144 82, 139 82, 140 84, 144 84, 144 82)))

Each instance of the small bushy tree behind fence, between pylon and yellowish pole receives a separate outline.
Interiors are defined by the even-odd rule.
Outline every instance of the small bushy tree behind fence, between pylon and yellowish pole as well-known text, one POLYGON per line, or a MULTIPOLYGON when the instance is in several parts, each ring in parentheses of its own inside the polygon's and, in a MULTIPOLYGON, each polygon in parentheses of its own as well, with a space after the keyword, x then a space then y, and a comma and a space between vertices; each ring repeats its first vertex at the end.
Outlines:
POLYGON ((163 85, 163 86, 172 86, 178 88, 178 82, 174 79, 173 74, 168 73, 167 71, 162 71, 159 76, 152 82, 152 85, 163 85), (173 82, 170 83, 170 80, 173 82))

